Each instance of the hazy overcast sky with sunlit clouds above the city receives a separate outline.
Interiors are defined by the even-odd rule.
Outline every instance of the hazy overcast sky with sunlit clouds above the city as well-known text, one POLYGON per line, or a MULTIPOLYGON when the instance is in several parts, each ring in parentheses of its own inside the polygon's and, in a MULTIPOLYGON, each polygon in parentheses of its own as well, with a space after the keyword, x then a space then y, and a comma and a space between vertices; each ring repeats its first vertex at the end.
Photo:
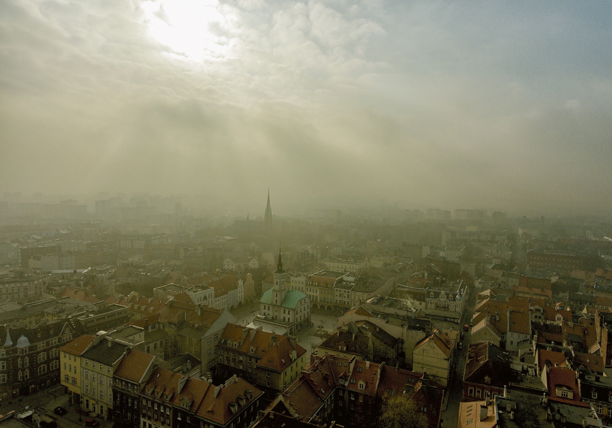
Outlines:
POLYGON ((0 1, 0 190, 609 209, 610 10, 0 1))

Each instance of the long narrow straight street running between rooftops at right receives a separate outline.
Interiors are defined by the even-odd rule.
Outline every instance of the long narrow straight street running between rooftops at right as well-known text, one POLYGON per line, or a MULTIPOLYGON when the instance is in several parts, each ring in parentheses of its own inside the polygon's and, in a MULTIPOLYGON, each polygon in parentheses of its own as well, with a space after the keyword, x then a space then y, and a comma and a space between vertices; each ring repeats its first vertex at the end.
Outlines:
MULTIPOLYGON (((474 289, 468 299, 466 310, 463 313, 463 319, 460 323, 461 331, 463 331, 463 325, 469 325, 474 315, 474 308, 476 307, 476 295, 480 293, 481 284, 476 283, 474 289)), ((459 411, 459 403, 463 397, 463 372, 465 370, 465 361, 468 356, 468 348, 471 336, 471 329, 465 332, 463 338, 463 349, 457 349, 455 355, 455 371, 452 374, 452 378, 449 379, 449 386, 446 390, 446 396, 444 398, 444 404, 442 405, 442 428, 455 428, 457 427, 457 416, 459 411)))

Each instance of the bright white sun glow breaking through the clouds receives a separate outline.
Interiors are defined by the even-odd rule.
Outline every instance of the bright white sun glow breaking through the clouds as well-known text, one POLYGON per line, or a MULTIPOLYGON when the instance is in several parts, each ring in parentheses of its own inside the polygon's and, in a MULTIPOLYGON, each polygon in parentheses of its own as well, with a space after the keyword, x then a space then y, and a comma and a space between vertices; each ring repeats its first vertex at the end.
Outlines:
POLYGON ((141 4, 151 36, 172 50, 170 56, 190 61, 222 59, 230 40, 212 28, 230 29, 230 9, 217 0, 146 1, 141 4))

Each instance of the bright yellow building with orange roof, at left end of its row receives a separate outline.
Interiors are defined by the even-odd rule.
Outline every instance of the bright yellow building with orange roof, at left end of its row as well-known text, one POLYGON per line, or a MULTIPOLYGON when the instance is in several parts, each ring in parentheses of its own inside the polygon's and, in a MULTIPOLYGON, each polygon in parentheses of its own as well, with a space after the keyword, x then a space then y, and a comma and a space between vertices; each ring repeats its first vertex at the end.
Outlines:
POLYGON ((81 361, 83 360, 81 355, 94 343, 94 336, 83 334, 80 338, 76 338, 59 349, 61 383, 72 404, 81 404, 81 361))

